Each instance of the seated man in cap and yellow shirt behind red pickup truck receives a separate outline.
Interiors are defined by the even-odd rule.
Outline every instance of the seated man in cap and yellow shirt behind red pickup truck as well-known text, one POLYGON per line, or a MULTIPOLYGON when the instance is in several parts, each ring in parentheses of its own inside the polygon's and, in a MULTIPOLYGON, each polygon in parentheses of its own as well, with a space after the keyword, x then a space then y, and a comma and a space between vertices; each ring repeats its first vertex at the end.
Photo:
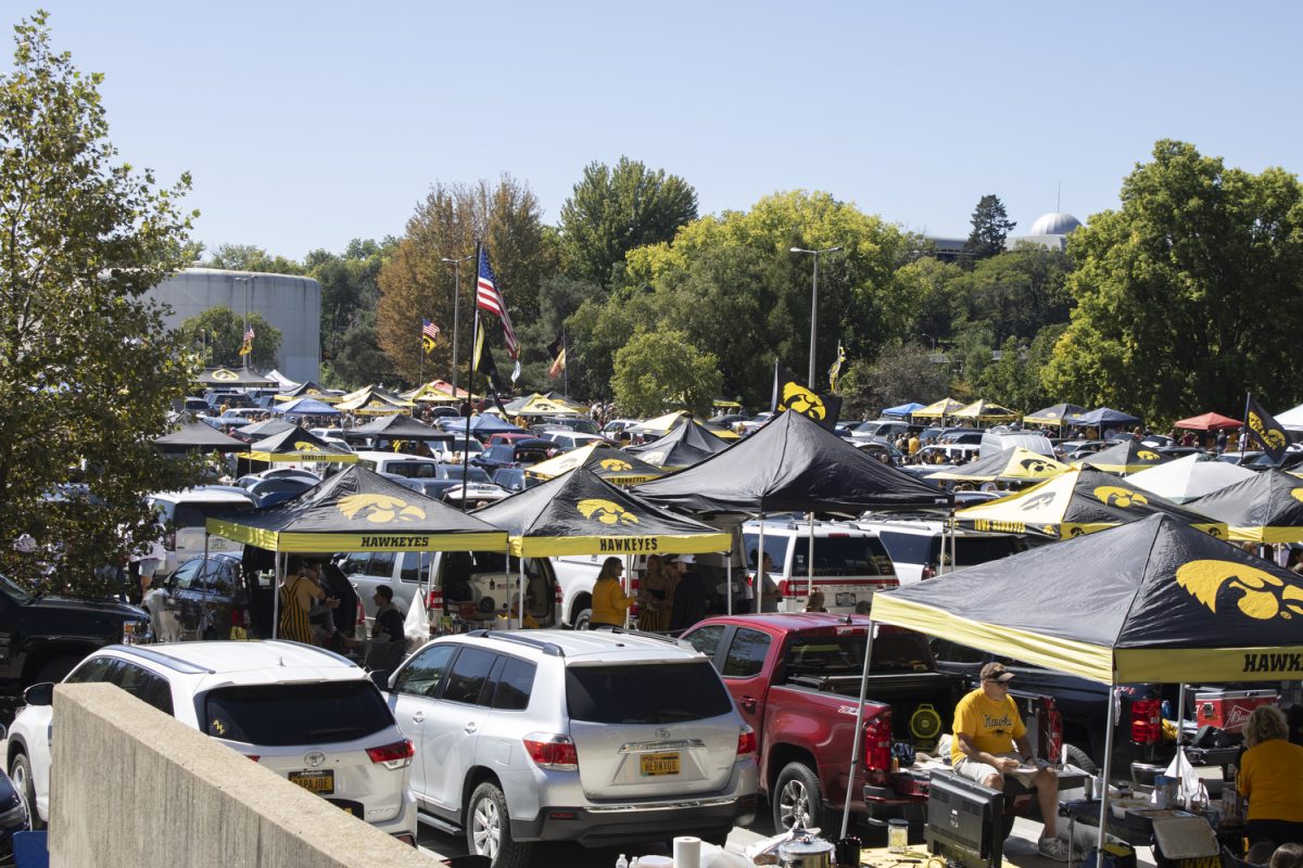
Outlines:
POLYGON ((1058 839, 1058 778, 1044 760, 1032 755, 1027 726, 1018 704, 1009 695, 1014 673, 1002 664, 981 668, 981 687, 955 705, 950 764, 958 774, 992 790, 1005 789, 1005 776, 1012 774, 1025 787, 1036 787, 1045 819, 1045 832, 1037 842, 1042 856, 1067 861, 1067 843, 1058 839), (1031 768, 1035 766, 1035 768, 1031 768), (1019 772, 1019 768, 1027 769, 1019 772))

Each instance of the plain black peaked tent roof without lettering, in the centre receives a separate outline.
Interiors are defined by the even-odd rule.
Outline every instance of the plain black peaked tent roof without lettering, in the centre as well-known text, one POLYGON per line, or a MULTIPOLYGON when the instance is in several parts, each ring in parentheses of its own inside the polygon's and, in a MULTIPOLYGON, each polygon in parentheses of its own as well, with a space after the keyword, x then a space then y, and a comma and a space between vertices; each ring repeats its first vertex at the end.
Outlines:
POLYGON ((863 511, 941 506, 950 497, 791 410, 700 465, 635 487, 691 513, 863 511))

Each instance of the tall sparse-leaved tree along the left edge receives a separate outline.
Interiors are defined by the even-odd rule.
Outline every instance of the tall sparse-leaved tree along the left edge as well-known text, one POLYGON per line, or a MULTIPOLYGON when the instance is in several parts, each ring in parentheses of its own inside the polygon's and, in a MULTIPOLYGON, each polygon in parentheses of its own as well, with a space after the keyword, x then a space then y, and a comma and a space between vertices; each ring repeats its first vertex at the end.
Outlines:
POLYGON ((190 359, 142 299, 188 262, 190 181, 158 187, 116 163, 103 77, 52 49, 46 13, 14 42, 0 75, 0 558, 93 592, 94 569, 149 532, 145 495, 193 480, 151 442, 190 359), (21 534, 34 554, 13 550, 21 534))

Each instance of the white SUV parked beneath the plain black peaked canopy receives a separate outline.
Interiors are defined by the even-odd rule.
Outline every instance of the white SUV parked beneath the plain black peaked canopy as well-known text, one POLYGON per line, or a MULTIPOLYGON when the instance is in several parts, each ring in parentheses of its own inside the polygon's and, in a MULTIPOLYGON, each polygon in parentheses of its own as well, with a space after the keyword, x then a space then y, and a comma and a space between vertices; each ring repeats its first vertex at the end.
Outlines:
MULTIPOLYGON (((756 549, 760 522, 741 527, 747 576, 756 575, 756 549)), ((770 576, 783 599, 779 612, 800 612, 808 600, 810 523, 805 519, 765 521, 765 553, 774 562, 770 576)), ((823 592, 829 612, 853 613, 857 604, 873 599, 874 591, 900 584, 891 556, 877 534, 842 522, 814 522, 814 590, 823 592)))

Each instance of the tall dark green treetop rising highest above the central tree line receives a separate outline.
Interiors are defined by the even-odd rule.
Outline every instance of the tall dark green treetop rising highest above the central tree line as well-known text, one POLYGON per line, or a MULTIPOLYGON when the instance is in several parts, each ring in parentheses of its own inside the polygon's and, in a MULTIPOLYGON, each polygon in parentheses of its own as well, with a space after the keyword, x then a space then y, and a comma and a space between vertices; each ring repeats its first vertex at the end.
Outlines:
POLYGON ((562 204, 566 273, 601 286, 635 247, 674 238, 697 219, 697 191, 676 174, 622 156, 615 167, 593 161, 562 204))

